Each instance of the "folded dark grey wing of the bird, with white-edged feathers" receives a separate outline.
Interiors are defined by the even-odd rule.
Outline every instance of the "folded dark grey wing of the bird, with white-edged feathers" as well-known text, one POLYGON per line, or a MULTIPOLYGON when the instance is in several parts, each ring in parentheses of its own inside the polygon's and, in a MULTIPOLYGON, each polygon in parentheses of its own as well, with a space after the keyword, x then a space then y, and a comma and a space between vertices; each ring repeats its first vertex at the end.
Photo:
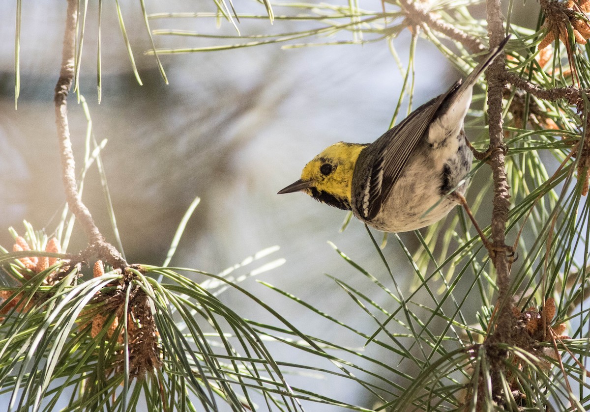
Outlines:
POLYGON ((460 84, 461 81, 458 81, 447 93, 412 111, 401 123, 386 131, 367 148, 370 149, 367 154, 372 159, 369 164, 363 165, 369 170, 364 173, 366 181, 361 186, 364 193, 358 193, 357 199, 357 205, 360 206, 358 210, 365 219, 371 220, 379 213, 412 151, 427 132, 438 108, 460 84))

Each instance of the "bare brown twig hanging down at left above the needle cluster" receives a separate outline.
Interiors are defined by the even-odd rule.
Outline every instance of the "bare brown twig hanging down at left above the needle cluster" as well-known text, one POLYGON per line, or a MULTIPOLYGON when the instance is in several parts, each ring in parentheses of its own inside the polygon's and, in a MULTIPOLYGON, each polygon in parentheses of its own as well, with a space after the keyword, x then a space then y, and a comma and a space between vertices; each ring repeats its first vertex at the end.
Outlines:
POLYGON ((61 55, 60 78, 55 85, 55 124, 60 144, 61 172, 65 187, 65 199, 71 212, 86 232, 90 246, 83 255, 97 255, 113 267, 124 268, 127 263, 121 254, 104 240, 99 228, 92 219, 90 210, 82 202, 76 183, 76 163, 70 140, 68 126, 67 98, 74 80, 74 61, 76 58, 76 25, 78 19, 78 1, 67 0, 64 43, 61 55))

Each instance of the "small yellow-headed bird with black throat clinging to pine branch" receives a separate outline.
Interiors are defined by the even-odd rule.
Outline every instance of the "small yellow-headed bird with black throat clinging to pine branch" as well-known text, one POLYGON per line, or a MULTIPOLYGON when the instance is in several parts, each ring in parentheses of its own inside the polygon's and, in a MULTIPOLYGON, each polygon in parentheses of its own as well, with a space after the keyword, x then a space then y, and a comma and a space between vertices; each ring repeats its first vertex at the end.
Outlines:
POLYGON ((304 192, 392 233, 432 225, 459 204, 467 208, 463 195, 473 153, 464 119, 473 86, 509 38, 491 48, 465 81, 422 104, 373 143, 340 141, 324 149, 278 194, 304 192))

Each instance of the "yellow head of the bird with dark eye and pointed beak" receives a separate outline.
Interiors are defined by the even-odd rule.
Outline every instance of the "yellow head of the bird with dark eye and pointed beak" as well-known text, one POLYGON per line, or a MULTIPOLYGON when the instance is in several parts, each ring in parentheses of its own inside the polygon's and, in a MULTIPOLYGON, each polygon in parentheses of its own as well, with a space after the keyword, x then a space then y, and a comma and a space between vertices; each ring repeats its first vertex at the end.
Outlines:
POLYGON ((343 141, 332 144, 305 165, 301 179, 278 194, 301 191, 327 205, 350 210, 352 173, 360 151, 366 146, 343 141))

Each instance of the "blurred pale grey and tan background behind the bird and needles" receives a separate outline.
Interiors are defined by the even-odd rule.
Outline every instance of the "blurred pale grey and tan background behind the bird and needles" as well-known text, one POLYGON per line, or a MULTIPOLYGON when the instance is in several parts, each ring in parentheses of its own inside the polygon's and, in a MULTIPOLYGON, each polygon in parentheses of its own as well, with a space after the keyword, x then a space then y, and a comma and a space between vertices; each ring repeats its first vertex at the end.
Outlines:
MULTIPOLYGON (((324 147, 336 141, 370 142, 388 129, 402 84, 388 42, 290 50, 273 44, 163 55, 169 79, 166 85, 154 58, 143 54, 150 48, 149 38, 140 5, 133 2, 122 6, 143 81, 139 85, 114 5, 104 2, 99 104, 97 2, 89 4, 80 90, 90 107, 96 139, 108 139, 102 159, 127 261, 160 265, 178 223, 198 196, 201 203, 171 265, 218 273, 261 249, 278 245, 280 250, 261 263, 277 258, 286 259, 286 263, 258 278, 371 334, 374 324, 324 275, 336 276, 363 291, 369 288, 366 294, 375 301, 392 304, 391 298, 360 276, 327 243, 334 242, 393 288, 364 226, 352 220, 340 233, 346 212, 321 205, 303 193, 276 193, 298 179, 304 164, 324 147)), ((153 0, 146 5, 148 12, 215 11, 212 1, 153 0)), ((27 219, 35 228, 51 233, 64 206, 53 90, 60 68, 65 8, 65 1, 22 3, 21 94, 15 110, 15 2, 0 2, 0 245, 5 248, 12 245, 9 226, 22 233, 22 220, 27 219)), ((255 2, 239 1, 235 8, 238 12, 265 12, 264 6, 255 2)), ((380 10, 381 2, 367 2, 363 8, 380 10)), ((281 14, 281 9, 275 8, 275 13, 281 14)), ((152 28, 185 25, 195 31, 217 30, 213 19, 162 19, 151 24, 152 28)), ((271 26, 261 20, 240 29, 245 34, 289 32, 291 25, 277 20, 271 26)), ((232 30, 228 22, 221 21, 220 33, 232 30)), ((407 62, 410 35, 404 31, 393 41, 402 62, 407 62)), ((157 47, 207 44, 207 40, 189 38, 155 37, 155 41, 157 47)), ((461 77, 426 41, 418 44, 415 75, 414 107, 461 77)), ((87 123, 73 94, 69 102, 79 171, 87 123)), ((404 113, 405 108, 398 121, 404 113)), ((87 175, 84 202, 103 234, 114 241, 96 167, 87 175)), ((401 237, 411 252, 419 247, 413 233, 401 237)), ((379 234, 377 239, 381 240, 379 234)), ((70 252, 77 252, 85 242, 83 233, 75 230, 70 252)), ((401 289, 408 291, 414 272, 401 255, 398 242, 390 238, 383 253, 401 289)), ((347 341, 350 334, 342 328, 301 312, 301 306, 254 279, 242 286, 304 332, 335 340, 342 333, 342 344, 362 347, 358 339, 347 341)), ((268 320, 240 294, 229 291, 221 299, 244 317, 268 320)), ((369 399, 363 400, 366 393, 356 385, 335 386, 326 380, 312 385, 332 397, 371 406, 369 399), (322 385, 323 390, 319 389, 322 385)))

